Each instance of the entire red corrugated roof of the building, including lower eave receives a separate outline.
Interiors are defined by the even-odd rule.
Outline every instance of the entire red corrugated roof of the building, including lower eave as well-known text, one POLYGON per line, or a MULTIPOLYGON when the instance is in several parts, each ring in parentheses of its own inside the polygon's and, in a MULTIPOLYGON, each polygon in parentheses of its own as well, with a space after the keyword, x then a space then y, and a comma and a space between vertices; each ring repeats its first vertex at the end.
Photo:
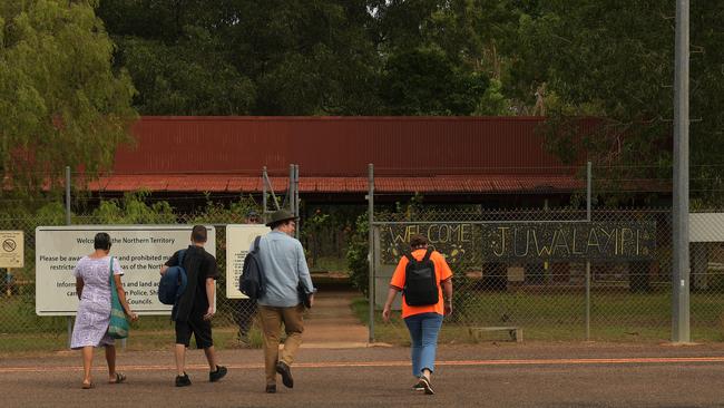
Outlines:
MULTIPOLYGON (((275 192, 300 165, 301 193, 570 192, 574 168, 544 148, 539 117, 154 117, 134 126, 91 191, 275 192)), ((581 122, 586 129, 594 120, 581 122)))

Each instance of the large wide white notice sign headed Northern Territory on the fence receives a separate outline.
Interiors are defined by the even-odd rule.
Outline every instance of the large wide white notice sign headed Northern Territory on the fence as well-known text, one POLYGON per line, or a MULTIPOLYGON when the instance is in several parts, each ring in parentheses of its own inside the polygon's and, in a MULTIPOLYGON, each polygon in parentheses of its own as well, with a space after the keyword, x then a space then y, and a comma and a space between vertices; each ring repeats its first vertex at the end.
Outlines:
MULTIPOLYGON (((207 225, 204 246, 216 255, 216 230, 207 225)), ((36 313, 75 315, 78 309, 76 278, 78 260, 94 251, 98 232, 110 235, 112 255, 124 271, 126 299, 138 314, 170 314, 172 307, 158 301, 160 266, 190 244, 193 225, 69 225, 36 229, 36 313)))

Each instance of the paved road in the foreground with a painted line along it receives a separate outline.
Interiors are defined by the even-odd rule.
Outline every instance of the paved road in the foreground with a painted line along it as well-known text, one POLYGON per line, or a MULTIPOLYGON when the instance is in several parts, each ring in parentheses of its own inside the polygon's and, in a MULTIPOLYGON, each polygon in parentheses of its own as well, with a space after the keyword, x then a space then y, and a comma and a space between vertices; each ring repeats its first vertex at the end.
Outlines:
POLYGON ((412 391, 409 349, 301 350, 295 387, 266 395, 261 350, 223 350, 229 368, 209 383, 203 352, 188 353, 193 385, 173 387, 169 351, 120 352, 128 382, 81 390, 78 352, 0 360, 0 406, 11 407, 722 407, 724 346, 524 343, 442 346, 437 395, 412 391))

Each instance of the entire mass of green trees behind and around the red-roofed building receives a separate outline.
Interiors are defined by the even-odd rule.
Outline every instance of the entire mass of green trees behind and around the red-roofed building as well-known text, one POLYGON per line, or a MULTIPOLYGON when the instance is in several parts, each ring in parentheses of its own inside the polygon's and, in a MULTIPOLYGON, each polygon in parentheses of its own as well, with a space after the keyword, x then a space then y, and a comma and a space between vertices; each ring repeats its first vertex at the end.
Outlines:
MULTIPOLYGON (((672 1, 0 4, 6 175, 23 155, 99 168, 133 98, 143 115, 545 115, 564 161, 585 147, 595 165, 625 168, 610 179, 671 179, 672 1), (577 144, 581 117, 601 126, 577 144)), ((692 192, 712 202, 724 191, 724 149, 712 148, 724 127, 724 3, 694 2, 691 16, 692 192)))

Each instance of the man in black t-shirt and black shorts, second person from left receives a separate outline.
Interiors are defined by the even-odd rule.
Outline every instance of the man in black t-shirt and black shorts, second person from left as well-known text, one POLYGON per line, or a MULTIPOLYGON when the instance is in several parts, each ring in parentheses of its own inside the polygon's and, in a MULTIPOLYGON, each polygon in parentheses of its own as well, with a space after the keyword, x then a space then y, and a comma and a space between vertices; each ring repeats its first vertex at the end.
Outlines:
MULTIPOLYGON (((226 375, 226 367, 216 365, 216 352, 212 339, 212 318, 215 314, 214 295, 216 293, 216 259, 204 250, 207 232, 204 225, 194 225, 192 230, 192 244, 184 254, 183 264, 188 276, 184 293, 174 304, 172 320, 176 322, 176 387, 190 386, 184 368, 186 366, 186 348, 192 333, 196 338, 196 347, 204 349, 208 361, 208 380, 214 382, 226 375)), ((169 266, 178 265, 179 252, 166 261, 160 269, 160 274, 166 273, 169 266)))

